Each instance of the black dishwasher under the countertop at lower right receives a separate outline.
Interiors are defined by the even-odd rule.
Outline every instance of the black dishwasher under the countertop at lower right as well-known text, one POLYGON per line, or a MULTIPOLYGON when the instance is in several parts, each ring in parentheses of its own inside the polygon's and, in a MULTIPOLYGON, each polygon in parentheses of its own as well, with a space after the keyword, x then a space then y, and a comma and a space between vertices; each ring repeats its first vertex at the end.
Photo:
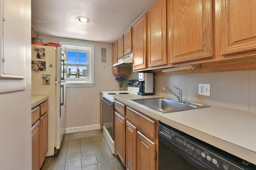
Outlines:
POLYGON ((256 170, 256 165, 159 123, 158 170, 256 170))

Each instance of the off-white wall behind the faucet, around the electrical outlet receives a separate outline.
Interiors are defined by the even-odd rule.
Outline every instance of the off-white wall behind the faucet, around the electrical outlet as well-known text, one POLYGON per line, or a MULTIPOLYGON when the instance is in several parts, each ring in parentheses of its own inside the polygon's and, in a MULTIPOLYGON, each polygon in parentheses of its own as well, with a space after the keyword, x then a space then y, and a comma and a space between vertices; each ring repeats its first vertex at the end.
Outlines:
POLYGON ((183 100, 256 113, 256 70, 154 76, 156 94, 176 98, 162 90, 183 91, 183 100), (211 84, 210 96, 198 95, 198 84, 211 84))

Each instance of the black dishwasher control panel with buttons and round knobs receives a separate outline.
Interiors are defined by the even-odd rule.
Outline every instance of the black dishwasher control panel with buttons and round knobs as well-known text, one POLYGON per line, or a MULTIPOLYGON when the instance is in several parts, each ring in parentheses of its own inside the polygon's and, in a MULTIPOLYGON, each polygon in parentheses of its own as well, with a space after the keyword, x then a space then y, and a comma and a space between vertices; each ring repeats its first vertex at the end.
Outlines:
POLYGON ((188 162, 201 162, 206 169, 256 170, 256 165, 164 123, 159 123, 158 139, 188 162))

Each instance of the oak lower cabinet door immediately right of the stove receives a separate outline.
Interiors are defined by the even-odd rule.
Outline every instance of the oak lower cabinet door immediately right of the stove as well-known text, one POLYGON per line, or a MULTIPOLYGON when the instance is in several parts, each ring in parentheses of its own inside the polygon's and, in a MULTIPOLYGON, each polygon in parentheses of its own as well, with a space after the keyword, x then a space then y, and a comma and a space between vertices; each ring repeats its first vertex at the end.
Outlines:
POLYGON ((115 112, 115 150, 125 166, 125 119, 115 112))

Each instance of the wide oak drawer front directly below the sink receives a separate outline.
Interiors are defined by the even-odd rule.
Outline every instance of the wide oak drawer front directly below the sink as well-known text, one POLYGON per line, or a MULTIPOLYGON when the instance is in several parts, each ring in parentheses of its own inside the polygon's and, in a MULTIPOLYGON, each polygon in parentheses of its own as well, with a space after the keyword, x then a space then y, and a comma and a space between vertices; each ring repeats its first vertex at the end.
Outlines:
POLYGON ((138 113, 137 111, 126 107, 126 118, 132 121, 136 127, 142 129, 153 139, 156 139, 156 122, 148 117, 138 113))

